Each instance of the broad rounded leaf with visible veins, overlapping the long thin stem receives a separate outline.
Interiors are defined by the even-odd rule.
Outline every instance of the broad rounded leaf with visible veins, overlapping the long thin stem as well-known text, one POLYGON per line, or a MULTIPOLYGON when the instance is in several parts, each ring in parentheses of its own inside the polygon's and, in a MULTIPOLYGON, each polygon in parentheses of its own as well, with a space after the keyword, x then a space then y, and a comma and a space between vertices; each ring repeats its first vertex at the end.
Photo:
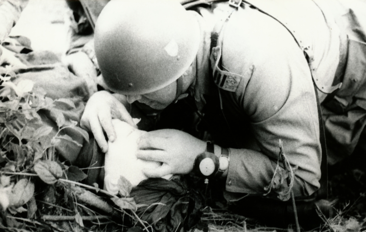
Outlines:
POLYGON ((62 169, 55 161, 38 161, 34 165, 34 171, 36 171, 38 177, 45 183, 53 184, 56 183, 57 179, 62 177, 62 169))

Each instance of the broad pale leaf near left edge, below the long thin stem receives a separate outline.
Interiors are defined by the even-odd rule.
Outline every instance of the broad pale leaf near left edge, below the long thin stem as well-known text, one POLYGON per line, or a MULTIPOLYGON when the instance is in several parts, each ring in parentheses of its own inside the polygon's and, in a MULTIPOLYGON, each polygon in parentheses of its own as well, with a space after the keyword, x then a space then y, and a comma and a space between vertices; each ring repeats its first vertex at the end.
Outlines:
POLYGON ((34 194, 34 184, 28 179, 20 179, 11 190, 10 206, 19 207, 27 203, 34 194))

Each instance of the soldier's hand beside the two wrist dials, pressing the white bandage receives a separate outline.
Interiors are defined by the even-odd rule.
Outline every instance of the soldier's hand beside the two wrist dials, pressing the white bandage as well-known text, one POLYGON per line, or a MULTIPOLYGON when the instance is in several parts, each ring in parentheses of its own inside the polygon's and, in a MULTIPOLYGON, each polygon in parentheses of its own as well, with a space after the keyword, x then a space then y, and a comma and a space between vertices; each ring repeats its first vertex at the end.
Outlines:
POLYGON ((192 171, 196 157, 206 150, 206 143, 183 131, 161 129, 143 135, 138 148, 137 158, 162 163, 155 169, 143 170, 145 175, 163 177, 192 171))

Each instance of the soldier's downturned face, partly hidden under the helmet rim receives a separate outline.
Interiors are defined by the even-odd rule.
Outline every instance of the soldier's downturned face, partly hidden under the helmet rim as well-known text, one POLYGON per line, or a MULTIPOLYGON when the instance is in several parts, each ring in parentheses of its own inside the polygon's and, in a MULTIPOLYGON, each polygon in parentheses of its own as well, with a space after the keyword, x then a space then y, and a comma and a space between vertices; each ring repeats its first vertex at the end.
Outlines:
POLYGON ((153 109, 165 109, 175 100, 176 91, 177 82, 174 81, 172 84, 151 93, 128 95, 127 101, 128 103, 138 101, 139 103, 146 104, 153 109))

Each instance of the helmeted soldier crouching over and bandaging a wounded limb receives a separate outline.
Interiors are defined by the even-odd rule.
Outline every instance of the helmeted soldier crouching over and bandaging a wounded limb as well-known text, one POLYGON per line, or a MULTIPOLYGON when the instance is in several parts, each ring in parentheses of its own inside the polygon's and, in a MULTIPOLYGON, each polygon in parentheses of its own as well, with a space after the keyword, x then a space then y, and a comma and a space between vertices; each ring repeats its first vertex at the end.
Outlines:
POLYGON ((286 204, 256 196, 271 182, 279 139, 291 166, 298 167, 292 187, 298 200, 321 195, 324 179, 326 189, 324 133, 330 163, 354 150, 366 122, 366 20, 359 18, 365 17, 366 5, 317 0, 202 4, 190 11, 171 0, 106 5, 94 42, 109 92, 89 99, 81 126, 106 152, 103 131, 115 139, 112 118, 135 126, 130 104, 163 110, 191 98, 209 128, 219 130, 212 133, 214 144, 179 130, 150 131, 139 142, 137 156, 162 165, 145 174, 220 176, 232 209, 290 219, 276 214, 290 213, 286 204))

